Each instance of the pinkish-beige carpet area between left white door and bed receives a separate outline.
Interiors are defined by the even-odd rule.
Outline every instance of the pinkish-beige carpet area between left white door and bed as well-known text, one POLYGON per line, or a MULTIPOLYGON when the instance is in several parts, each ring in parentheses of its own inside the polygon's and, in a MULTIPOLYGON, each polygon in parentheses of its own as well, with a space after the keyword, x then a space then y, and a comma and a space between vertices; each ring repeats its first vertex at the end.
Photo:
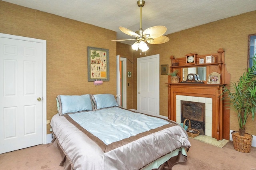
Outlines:
POLYGON ((60 152, 50 144, 0 154, 0 170, 64 170, 60 152))

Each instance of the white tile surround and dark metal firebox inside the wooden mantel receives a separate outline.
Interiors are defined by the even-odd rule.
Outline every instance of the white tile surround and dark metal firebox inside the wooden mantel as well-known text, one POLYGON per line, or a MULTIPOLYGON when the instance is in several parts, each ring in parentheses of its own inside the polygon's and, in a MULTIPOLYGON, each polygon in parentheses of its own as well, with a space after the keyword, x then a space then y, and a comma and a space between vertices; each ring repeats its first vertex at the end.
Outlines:
POLYGON ((176 122, 183 123, 186 118, 191 128, 212 137, 212 98, 176 95, 176 122))

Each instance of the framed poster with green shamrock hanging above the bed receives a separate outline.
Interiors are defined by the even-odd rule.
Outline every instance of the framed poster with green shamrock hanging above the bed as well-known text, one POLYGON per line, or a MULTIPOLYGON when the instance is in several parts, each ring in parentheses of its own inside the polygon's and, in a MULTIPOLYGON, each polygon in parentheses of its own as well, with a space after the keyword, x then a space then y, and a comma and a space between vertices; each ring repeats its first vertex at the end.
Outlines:
POLYGON ((108 49, 87 47, 88 51, 88 81, 109 81, 108 49))

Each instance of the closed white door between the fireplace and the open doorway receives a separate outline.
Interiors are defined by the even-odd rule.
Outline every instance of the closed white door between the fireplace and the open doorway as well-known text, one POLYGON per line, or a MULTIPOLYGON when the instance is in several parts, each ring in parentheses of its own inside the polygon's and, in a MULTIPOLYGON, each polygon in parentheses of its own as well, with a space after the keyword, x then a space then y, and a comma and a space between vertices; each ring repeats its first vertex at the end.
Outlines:
POLYGON ((137 58, 137 111, 159 116, 159 54, 137 58))

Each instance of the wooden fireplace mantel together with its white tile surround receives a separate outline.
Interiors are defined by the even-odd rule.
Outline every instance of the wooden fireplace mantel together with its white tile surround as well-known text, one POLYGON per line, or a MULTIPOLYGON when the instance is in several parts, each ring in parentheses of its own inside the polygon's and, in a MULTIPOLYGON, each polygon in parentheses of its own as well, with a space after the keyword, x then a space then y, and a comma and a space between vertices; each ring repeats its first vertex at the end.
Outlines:
MULTIPOLYGON (((189 54, 190 55, 190 54, 189 54)), ((173 56, 170 57, 173 63, 173 56)), ((217 72, 221 75, 220 83, 212 83, 203 80, 198 83, 193 80, 186 83, 171 83, 171 76, 168 76, 168 119, 181 122, 181 104, 180 101, 191 101, 205 103, 205 135, 216 138, 217 140, 230 138, 230 109, 224 108, 223 103, 228 100, 222 100, 222 85, 230 84, 230 73, 226 69, 224 62, 224 50, 218 49, 217 53, 196 55, 196 63, 188 64, 186 57, 179 57, 179 65, 171 66, 171 72, 178 70, 179 76, 183 77, 183 69, 189 67, 206 67, 206 75, 217 72), (199 60, 208 55, 214 57, 214 63, 200 64, 199 60), (178 99, 182 98, 182 99, 178 99), (183 99, 183 98, 187 98, 183 99), (204 100, 201 102, 200 100, 204 100)))

